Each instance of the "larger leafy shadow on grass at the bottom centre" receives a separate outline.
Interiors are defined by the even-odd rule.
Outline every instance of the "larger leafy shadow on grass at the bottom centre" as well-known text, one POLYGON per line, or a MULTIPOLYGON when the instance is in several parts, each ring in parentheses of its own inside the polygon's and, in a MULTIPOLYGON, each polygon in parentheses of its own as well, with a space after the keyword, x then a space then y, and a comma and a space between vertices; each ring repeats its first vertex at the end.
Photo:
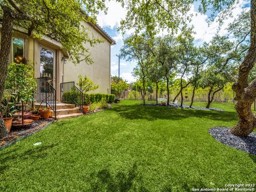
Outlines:
POLYGON ((137 165, 134 163, 132 168, 124 173, 118 172, 116 175, 111 175, 108 169, 103 169, 98 173, 92 173, 91 187, 93 191, 129 191, 132 188, 137 188, 138 191, 148 191, 142 186, 141 178, 138 178, 137 165), (138 185, 139 183, 139 185, 138 185))

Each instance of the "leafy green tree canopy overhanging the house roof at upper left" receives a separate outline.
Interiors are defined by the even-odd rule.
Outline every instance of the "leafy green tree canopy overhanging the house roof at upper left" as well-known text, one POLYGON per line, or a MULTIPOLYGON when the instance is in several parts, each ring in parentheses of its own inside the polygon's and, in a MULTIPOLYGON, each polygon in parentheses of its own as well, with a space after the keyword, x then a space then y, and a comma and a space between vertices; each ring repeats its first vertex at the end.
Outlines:
MULTIPOLYGON (((11 1, 2 1, 1 4, 11 7, 17 14, 20 13, 22 19, 15 17, 14 25, 29 29, 28 36, 39 39, 47 36, 55 39, 61 43, 63 49, 67 50, 70 59, 75 63, 82 60, 87 63, 93 62, 89 48, 84 44, 93 46, 104 40, 95 38, 91 31, 81 23, 95 22, 100 10, 106 12, 105 0, 12 0, 15 6, 9 2, 11 1)), ((0 18, 3 18, 2 9, 0 18)))

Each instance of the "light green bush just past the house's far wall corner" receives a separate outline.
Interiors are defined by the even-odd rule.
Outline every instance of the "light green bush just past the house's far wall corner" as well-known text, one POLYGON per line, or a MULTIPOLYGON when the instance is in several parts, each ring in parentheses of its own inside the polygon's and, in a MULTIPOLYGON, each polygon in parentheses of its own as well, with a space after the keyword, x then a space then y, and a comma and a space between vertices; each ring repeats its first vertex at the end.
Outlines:
POLYGON ((126 91, 128 88, 129 84, 127 84, 122 78, 118 81, 118 77, 111 77, 111 94, 115 94, 118 99, 120 98, 121 93, 126 91))

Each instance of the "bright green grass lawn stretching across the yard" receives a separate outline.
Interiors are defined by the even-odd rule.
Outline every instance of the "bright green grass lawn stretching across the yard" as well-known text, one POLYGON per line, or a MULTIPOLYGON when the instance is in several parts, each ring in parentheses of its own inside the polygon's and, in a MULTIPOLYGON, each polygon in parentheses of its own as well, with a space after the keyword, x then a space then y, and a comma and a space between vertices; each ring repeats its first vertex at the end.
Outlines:
POLYGON ((205 111, 139 103, 58 121, 1 150, 0 191, 190 191, 255 183, 256 157, 208 133, 236 124, 233 104, 205 111))

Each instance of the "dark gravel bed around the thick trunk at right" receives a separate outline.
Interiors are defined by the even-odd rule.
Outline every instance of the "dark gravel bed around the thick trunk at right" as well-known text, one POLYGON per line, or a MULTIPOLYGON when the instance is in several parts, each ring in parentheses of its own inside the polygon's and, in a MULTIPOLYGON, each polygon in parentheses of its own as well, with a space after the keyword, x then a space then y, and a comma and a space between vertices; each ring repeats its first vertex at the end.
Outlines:
POLYGON ((256 155, 256 133, 251 133, 247 137, 237 137, 231 134, 229 130, 228 127, 213 127, 209 133, 224 145, 256 155))

